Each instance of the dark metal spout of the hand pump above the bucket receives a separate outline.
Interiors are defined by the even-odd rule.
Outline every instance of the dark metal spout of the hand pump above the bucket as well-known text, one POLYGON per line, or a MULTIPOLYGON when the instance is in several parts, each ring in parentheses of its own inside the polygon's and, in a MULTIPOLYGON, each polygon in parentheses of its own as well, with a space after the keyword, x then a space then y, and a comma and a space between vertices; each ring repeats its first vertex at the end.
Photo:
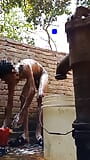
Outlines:
POLYGON ((71 70, 69 64, 69 55, 67 55, 59 64, 57 64, 55 78, 57 80, 63 80, 67 78, 67 72, 71 70))

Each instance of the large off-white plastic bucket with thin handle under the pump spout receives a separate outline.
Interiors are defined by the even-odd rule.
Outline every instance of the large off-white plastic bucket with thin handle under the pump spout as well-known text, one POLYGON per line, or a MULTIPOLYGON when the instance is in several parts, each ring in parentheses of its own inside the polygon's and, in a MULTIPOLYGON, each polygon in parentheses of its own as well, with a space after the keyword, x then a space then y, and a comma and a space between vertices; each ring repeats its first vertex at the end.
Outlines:
MULTIPOLYGON (((49 132, 67 133, 75 120, 74 98, 65 95, 50 95, 43 102, 43 127, 49 132)), ((75 142, 68 135, 44 133, 44 158, 46 160, 76 160, 75 142)))

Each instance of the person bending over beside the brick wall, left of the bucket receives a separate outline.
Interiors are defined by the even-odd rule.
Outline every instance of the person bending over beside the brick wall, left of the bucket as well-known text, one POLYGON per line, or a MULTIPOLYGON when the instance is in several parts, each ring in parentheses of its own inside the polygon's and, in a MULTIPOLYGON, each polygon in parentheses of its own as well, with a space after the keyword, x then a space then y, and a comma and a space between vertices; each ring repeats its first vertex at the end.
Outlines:
POLYGON ((19 81, 26 79, 26 83, 20 96, 20 112, 14 117, 12 122, 13 127, 23 124, 24 133, 22 138, 25 142, 29 142, 28 109, 35 95, 35 89, 37 89, 38 121, 36 127, 36 139, 41 142, 42 136, 39 114, 41 111, 42 97, 44 96, 48 85, 47 71, 40 63, 33 59, 23 59, 16 65, 7 60, 1 60, 0 78, 8 84, 8 102, 7 107, 5 108, 3 127, 8 127, 10 123, 15 86, 19 81))

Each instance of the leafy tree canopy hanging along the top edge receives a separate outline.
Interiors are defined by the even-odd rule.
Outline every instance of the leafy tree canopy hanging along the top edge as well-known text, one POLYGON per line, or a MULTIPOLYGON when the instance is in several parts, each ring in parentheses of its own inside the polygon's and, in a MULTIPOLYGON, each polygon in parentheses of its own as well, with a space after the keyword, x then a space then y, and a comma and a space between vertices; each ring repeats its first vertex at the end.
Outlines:
MULTIPOLYGON (((24 11, 27 21, 35 26, 46 25, 57 19, 58 15, 68 14, 71 0, 1 0, 2 10, 9 13, 10 9, 20 7, 24 11)), ((90 5, 90 0, 76 0, 77 4, 90 5)))

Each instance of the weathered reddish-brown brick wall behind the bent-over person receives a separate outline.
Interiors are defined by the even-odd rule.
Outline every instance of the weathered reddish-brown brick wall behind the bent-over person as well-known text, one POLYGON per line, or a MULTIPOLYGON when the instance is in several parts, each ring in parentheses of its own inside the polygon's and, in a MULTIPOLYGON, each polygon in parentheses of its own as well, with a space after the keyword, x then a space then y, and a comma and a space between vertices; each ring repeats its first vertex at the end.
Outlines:
MULTIPOLYGON (((56 72, 57 62, 65 56, 65 53, 59 53, 46 49, 36 48, 30 45, 22 44, 11 39, 0 38, 0 60, 3 58, 11 59, 15 63, 20 59, 33 58, 39 61, 47 70, 49 75, 48 94, 73 94, 72 73, 69 72, 66 80, 57 81, 54 76, 56 72)), ((19 96, 25 81, 19 82, 15 88, 14 94, 14 108, 13 113, 16 113, 20 107, 19 96)), ((7 85, 0 81, 0 114, 3 118, 3 112, 7 104, 7 85)), ((36 99, 34 98, 31 107, 30 114, 36 114, 37 112, 36 99)))

